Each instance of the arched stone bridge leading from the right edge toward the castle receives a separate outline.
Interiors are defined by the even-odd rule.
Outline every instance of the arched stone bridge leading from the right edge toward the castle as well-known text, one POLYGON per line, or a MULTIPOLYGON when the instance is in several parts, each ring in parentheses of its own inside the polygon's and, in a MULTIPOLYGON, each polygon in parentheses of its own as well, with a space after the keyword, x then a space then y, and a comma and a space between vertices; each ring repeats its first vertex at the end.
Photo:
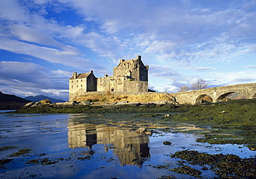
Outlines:
POLYGON ((256 98, 256 83, 235 84, 230 86, 220 86, 215 88, 205 88, 195 91, 172 93, 179 104, 201 104, 203 97, 211 97, 211 102, 220 102, 231 93, 239 93, 247 99, 256 98))

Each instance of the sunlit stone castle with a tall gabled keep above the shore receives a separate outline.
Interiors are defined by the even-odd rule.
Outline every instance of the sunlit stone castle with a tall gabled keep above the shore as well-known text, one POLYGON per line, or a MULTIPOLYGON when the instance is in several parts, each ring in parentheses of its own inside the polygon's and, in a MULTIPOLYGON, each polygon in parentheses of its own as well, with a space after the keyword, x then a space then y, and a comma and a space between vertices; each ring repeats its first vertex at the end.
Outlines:
POLYGON ((117 92, 147 92, 148 70, 138 55, 136 59, 120 59, 118 66, 113 68, 113 76, 95 77, 93 71, 89 73, 73 73, 69 79, 69 101, 86 95, 92 91, 117 92))

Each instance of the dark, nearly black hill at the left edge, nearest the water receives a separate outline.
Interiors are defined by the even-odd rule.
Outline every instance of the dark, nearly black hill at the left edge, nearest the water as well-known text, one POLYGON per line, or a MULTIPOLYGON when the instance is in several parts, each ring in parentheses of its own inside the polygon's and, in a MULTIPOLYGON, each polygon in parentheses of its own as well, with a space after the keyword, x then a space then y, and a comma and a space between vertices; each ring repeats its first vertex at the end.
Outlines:
POLYGON ((17 97, 15 95, 7 95, 0 91, 0 109, 18 109, 25 104, 30 102, 29 100, 24 100, 22 97, 17 97))

